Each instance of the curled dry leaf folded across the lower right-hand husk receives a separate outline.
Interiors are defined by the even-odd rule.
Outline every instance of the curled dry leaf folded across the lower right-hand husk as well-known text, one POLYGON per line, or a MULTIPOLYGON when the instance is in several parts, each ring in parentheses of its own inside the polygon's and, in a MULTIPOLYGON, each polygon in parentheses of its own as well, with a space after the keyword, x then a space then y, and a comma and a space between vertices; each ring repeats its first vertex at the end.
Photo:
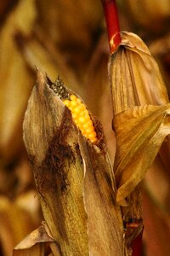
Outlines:
POLYGON ((161 143, 170 134, 170 104, 127 109, 116 115, 114 126, 116 201, 121 203, 142 181, 161 143))

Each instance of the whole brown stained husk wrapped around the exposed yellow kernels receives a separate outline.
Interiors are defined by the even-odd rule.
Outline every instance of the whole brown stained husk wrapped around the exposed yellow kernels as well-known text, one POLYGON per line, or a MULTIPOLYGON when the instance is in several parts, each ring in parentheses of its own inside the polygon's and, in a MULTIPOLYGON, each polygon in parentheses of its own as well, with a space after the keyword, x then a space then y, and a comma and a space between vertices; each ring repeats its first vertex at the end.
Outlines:
POLYGON ((48 229, 63 255, 122 255, 122 217, 99 121, 94 119, 100 139, 93 145, 48 81, 37 73, 24 121, 48 229))

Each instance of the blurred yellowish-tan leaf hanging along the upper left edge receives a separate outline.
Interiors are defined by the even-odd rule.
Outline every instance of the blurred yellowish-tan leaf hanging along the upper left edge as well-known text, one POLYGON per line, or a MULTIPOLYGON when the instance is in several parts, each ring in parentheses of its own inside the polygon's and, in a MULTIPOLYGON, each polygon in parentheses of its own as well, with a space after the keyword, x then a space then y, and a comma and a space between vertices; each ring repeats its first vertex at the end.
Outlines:
POLYGON ((20 1, 0 32, 0 151, 7 162, 23 145, 20 136, 22 118, 33 84, 33 77, 15 44, 14 34, 20 31, 29 35, 36 15, 34 0, 20 1))

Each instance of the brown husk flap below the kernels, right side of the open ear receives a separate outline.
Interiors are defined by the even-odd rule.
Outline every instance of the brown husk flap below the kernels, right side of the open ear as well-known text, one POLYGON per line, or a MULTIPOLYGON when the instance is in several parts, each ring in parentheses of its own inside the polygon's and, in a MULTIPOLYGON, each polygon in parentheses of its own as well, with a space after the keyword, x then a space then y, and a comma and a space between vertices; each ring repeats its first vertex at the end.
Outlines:
POLYGON ((106 165, 107 155, 104 157, 99 148, 90 144, 81 144, 81 154, 85 164, 83 197, 88 215, 88 253, 122 255, 122 215, 115 204, 111 164, 106 165))

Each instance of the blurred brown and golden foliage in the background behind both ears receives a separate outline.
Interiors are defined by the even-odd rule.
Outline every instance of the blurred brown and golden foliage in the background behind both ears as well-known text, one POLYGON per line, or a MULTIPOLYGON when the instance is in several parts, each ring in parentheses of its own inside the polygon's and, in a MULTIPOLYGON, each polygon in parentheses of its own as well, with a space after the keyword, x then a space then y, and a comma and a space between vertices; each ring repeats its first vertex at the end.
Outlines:
MULTIPOLYGON (((117 4, 122 30, 144 39, 170 91, 170 0, 117 4)), ((2 0, 0 38, 0 255, 8 256, 42 221, 22 139, 36 67, 53 81, 60 75, 99 116, 112 161, 116 142, 107 76, 109 47, 99 0, 2 0)), ((144 255, 167 255, 170 166, 156 160, 143 188, 144 255)))

